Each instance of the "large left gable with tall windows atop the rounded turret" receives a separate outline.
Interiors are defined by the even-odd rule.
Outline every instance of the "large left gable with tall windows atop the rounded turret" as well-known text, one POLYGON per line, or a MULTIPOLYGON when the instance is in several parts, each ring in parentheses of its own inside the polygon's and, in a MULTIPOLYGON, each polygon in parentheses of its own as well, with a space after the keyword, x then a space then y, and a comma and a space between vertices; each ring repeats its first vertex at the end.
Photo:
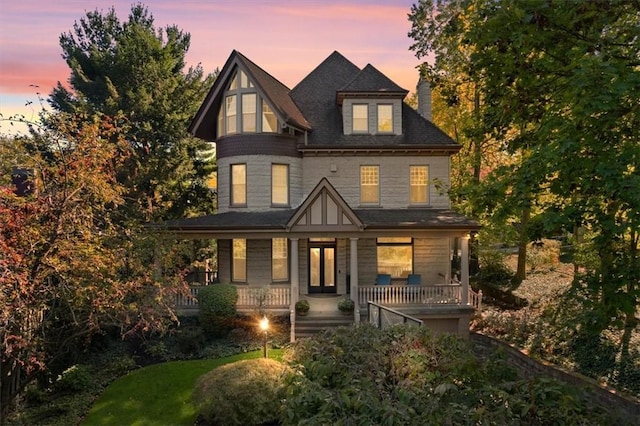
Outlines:
POLYGON ((233 51, 220 71, 189 131, 214 141, 230 135, 295 133, 309 130, 289 88, 233 51))

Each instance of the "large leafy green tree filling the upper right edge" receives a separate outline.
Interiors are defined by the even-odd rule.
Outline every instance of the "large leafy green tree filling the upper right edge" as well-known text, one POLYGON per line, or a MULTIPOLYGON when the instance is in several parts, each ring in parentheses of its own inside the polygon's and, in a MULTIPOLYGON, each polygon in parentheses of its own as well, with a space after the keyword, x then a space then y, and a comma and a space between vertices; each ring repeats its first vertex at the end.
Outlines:
POLYGON ((540 213, 542 233, 586 230, 584 328, 632 327, 640 301, 640 2, 461 0, 453 30, 487 103, 484 132, 515 163, 491 189, 540 213))

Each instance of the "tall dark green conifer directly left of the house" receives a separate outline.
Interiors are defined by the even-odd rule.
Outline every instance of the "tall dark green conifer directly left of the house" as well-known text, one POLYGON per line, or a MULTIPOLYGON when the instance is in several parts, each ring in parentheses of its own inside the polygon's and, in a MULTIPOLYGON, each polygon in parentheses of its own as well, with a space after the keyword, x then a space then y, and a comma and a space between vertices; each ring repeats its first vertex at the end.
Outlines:
POLYGON ((180 218, 213 210, 207 180, 210 147, 187 126, 213 83, 198 65, 185 70, 190 35, 158 29, 142 4, 126 22, 111 8, 93 11, 60 36, 71 69, 69 89, 58 82, 49 102, 57 111, 122 114, 132 155, 118 170, 126 218, 180 218))

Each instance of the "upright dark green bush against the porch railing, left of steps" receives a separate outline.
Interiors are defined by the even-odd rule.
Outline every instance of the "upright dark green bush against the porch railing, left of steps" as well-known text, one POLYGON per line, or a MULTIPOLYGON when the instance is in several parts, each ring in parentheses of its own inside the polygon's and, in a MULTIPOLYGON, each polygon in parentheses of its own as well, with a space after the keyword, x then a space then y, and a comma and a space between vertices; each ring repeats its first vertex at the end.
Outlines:
POLYGON ((200 324, 213 337, 224 337, 236 317, 238 290, 231 284, 214 284, 198 293, 200 324))

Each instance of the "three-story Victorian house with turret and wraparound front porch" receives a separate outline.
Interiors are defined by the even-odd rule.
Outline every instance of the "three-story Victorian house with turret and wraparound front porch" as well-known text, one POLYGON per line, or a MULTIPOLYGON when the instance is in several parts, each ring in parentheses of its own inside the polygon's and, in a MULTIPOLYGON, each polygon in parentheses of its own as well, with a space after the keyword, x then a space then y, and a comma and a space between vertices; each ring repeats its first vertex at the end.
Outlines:
POLYGON ((429 121, 428 84, 418 92, 422 114, 407 90, 338 52, 289 89, 233 51, 189 128, 216 144, 218 211, 168 229, 216 239, 218 279, 237 286, 238 308, 268 288, 292 340, 299 299, 330 312, 344 297, 355 322, 372 301, 468 333, 479 224, 450 210, 460 145, 429 121))

